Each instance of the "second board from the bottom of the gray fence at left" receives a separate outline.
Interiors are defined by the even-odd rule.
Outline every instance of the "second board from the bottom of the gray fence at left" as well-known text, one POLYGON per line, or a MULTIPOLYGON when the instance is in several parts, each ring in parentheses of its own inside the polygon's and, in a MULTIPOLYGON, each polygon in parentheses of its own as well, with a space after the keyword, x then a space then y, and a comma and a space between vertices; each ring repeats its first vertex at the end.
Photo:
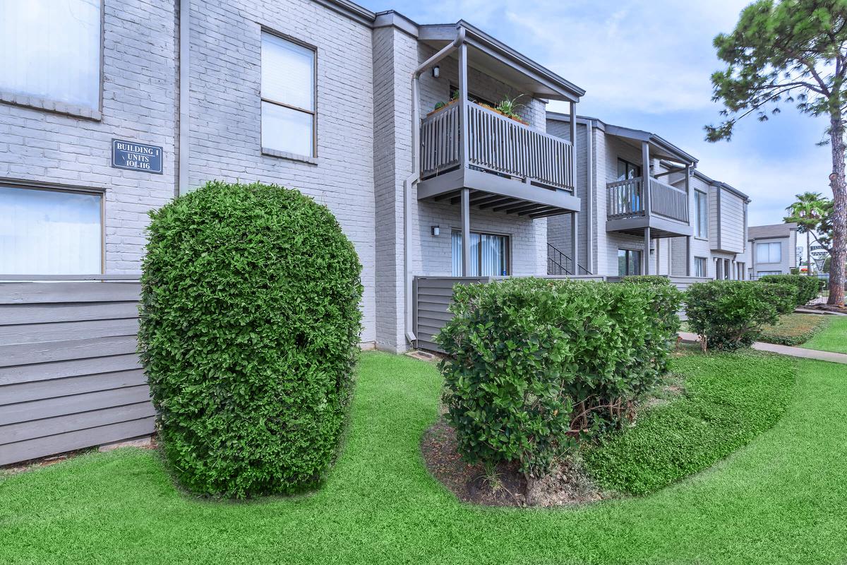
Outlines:
POLYGON ((150 402, 139 402, 92 412, 73 413, 56 418, 45 418, 36 422, 21 422, 0 426, 0 445, 24 440, 35 440, 47 435, 64 434, 77 429, 97 428, 107 424, 119 424, 139 418, 155 416, 156 410, 150 402))

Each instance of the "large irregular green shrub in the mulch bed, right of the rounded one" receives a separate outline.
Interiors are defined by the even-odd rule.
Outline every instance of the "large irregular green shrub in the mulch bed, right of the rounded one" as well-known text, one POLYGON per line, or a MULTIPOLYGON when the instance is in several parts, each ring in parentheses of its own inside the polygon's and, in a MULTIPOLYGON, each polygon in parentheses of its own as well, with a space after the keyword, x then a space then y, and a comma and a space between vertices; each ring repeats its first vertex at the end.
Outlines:
MULTIPOLYGON (((457 285, 437 337, 462 455, 545 474, 570 430, 620 423, 674 341, 654 285, 520 279, 457 285)), ((668 307, 676 313, 679 301, 668 307)))

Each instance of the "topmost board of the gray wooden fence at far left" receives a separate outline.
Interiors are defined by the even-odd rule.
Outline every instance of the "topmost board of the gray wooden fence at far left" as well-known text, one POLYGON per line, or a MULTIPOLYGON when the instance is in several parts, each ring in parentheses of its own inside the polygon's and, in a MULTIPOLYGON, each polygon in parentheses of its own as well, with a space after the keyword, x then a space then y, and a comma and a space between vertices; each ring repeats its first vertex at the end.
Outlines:
POLYGON ((127 302, 141 296, 137 282, 0 283, 0 304, 46 302, 127 302))

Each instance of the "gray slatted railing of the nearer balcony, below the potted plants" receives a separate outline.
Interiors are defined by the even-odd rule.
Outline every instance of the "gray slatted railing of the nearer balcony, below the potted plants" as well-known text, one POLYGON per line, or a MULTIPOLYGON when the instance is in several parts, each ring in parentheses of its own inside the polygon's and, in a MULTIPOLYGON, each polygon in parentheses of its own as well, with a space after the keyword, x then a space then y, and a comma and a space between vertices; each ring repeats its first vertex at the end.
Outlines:
MULTIPOLYGON (((421 123, 421 176, 452 169, 461 158, 459 113, 454 103, 421 123)), ((468 102, 468 156, 465 166, 573 190, 573 145, 479 104, 468 102)))

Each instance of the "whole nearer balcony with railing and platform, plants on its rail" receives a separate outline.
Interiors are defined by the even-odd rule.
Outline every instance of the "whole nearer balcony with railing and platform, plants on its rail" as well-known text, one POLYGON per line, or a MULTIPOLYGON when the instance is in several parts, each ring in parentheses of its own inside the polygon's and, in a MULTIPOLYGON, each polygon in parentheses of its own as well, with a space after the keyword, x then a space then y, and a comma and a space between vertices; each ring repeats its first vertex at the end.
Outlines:
POLYGON ((495 212, 542 218, 579 210, 570 141, 473 102, 465 107, 464 131, 460 102, 421 121, 418 198, 453 200, 468 188, 472 205, 495 212))

